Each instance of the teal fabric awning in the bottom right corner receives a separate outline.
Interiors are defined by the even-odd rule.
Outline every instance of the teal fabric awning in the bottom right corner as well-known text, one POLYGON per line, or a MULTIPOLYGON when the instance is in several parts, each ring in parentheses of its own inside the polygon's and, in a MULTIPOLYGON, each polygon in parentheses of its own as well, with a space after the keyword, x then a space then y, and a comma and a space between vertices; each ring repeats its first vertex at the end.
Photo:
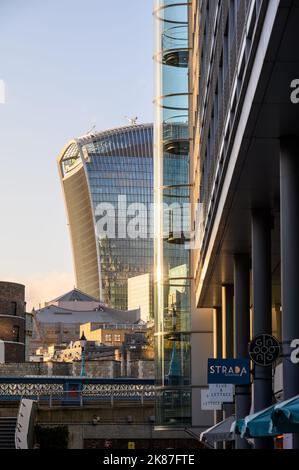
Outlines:
POLYGON ((235 421, 232 431, 243 438, 299 433, 299 395, 235 421))

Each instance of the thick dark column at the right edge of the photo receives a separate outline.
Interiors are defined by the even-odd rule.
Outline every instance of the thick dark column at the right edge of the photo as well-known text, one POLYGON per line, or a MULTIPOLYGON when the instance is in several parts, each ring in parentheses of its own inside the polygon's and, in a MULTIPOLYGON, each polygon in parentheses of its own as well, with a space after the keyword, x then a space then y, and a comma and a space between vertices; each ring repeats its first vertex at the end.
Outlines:
MULTIPOLYGON (((290 361, 290 341, 299 338, 299 139, 280 141, 281 303, 284 345, 284 399, 299 394, 298 364, 290 361)), ((299 448, 299 434, 293 436, 299 448)))

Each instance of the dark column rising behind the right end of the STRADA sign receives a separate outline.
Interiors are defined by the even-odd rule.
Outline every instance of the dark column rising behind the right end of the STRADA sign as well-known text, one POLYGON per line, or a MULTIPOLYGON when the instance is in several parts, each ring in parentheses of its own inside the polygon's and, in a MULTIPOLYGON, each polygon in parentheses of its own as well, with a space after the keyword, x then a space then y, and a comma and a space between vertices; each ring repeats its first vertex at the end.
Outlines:
MULTIPOLYGON (((250 340, 250 262, 248 255, 234 256, 235 357, 248 357, 250 340)), ((250 386, 236 386, 236 418, 250 413, 250 386)), ((236 448, 247 449, 245 439, 237 437, 236 448)))

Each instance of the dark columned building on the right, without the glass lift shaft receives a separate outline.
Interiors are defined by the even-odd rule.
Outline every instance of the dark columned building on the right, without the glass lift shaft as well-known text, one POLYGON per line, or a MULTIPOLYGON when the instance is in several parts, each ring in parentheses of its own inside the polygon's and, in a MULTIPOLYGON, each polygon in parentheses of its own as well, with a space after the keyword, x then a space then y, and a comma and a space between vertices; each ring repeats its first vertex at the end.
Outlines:
MULTIPOLYGON (((252 336, 282 335, 285 399, 299 394, 290 359, 299 338, 298 24, 293 0, 189 5, 196 305, 214 309, 220 358, 248 357, 252 336)), ((238 419, 272 405, 274 367, 255 365, 252 387, 236 387, 238 419)), ((273 438, 266 432, 254 445, 272 447, 273 438)))

